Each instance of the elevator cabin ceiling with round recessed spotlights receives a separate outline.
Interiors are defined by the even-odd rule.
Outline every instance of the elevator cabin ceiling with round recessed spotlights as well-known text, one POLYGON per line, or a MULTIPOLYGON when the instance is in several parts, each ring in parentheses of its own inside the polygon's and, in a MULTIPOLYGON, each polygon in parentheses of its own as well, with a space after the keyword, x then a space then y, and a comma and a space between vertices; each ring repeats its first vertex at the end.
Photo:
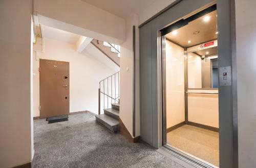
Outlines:
POLYGON ((206 14, 196 20, 188 23, 188 25, 176 30, 177 34, 174 35, 170 32, 166 35, 166 38, 172 40, 184 47, 193 46, 206 41, 217 39, 217 11, 213 11, 206 14), (209 16, 208 21, 204 21, 205 16, 209 16), (194 32, 199 31, 198 34, 194 32), (188 43, 188 41, 191 41, 188 43))

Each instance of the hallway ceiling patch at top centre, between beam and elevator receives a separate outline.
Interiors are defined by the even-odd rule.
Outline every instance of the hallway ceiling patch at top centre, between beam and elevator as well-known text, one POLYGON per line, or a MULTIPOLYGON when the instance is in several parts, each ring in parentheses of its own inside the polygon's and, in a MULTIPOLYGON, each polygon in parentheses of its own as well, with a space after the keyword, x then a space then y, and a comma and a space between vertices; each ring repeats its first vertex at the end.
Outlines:
POLYGON ((156 0, 81 0, 116 16, 126 18, 132 13, 143 11, 156 0))

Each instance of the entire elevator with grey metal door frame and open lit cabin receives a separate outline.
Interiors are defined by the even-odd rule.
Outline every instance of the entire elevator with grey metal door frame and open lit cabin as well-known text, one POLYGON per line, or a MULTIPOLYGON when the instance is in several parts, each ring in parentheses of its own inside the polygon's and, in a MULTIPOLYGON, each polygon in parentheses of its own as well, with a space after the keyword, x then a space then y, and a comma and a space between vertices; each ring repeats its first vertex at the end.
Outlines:
MULTIPOLYGON (((233 51, 236 32, 233 31, 233 6, 234 3, 230 1, 175 1, 139 25, 141 139, 166 156, 175 156, 178 158, 177 162, 183 161, 184 167, 238 167, 237 94, 234 73, 236 63, 233 62, 233 59, 236 59, 236 53, 233 51), (204 19, 204 16, 211 13, 215 13, 215 17, 212 15, 204 19), (195 27, 200 27, 194 31, 183 30, 200 18, 201 24, 195 24, 195 27), (199 30, 214 20, 216 21, 213 26, 203 29, 211 33, 204 34, 204 31, 199 30), (195 33, 195 36, 203 36, 197 40, 186 34, 189 32, 193 35, 195 33), (170 53, 165 49, 172 47, 171 45, 176 46, 173 50, 177 54, 165 58, 166 53, 170 53), (200 47, 200 50, 191 50, 193 46, 198 49, 200 47), (166 59, 172 60, 169 61, 172 66, 166 67, 166 59), (166 82, 174 83, 167 87, 166 82), (168 106, 166 99, 169 99, 168 106), (168 114, 167 108, 170 110, 168 114), (179 109, 179 113, 175 109, 179 109), (174 112, 177 115, 172 115, 174 112), (209 149, 193 149, 190 148, 193 146, 191 143, 175 141, 168 136, 180 136, 177 132, 183 127, 212 133, 212 138, 209 139, 215 142, 210 142, 215 148, 209 149, 214 151, 212 153, 215 155, 211 155, 209 149), (179 144, 181 142, 183 144, 179 144), (203 151, 203 154, 195 151, 203 151)), ((184 129, 183 132, 185 131, 184 129)), ((187 137, 190 142, 196 142, 191 137, 208 142, 204 139, 206 136, 193 133, 187 137)), ((206 145, 207 143, 204 146, 206 145)))

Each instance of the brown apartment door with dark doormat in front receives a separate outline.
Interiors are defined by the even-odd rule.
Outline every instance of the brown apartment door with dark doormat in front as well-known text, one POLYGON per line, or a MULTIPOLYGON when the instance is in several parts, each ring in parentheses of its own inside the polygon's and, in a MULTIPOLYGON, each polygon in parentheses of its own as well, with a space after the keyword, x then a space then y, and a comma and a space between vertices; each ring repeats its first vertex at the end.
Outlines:
POLYGON ((40 59, 40 118, 69 114, 69 62, 40 59))

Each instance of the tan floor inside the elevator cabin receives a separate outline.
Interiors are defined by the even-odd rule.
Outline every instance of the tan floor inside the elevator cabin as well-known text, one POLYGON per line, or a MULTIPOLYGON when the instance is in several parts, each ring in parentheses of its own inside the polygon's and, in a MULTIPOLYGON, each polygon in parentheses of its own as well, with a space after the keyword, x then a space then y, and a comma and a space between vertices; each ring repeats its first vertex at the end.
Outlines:
POLYGON ((219 133, 184 125, 167 133, 167 143, 219 166, 219 133))

